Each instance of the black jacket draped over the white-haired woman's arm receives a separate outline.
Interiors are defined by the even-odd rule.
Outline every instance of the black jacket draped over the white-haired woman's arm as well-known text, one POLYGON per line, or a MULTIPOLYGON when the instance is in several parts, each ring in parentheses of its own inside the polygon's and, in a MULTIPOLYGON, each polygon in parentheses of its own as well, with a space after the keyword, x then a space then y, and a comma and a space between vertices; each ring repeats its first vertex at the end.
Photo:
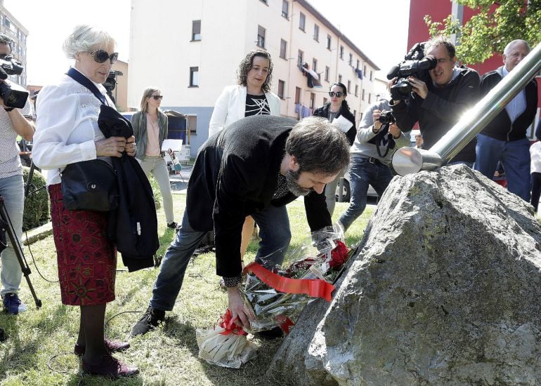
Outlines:
MULTIPOLYGON (((115 109, 101 105, 98 126, 106 138, 133 135, 130 122, 115 109)), ((156 207, 152 187, 141 165, 126 153, 111 157, 117 171, 119 208, 111 211, 107 222, 107 237, 122 253, 122 262, 129 272, 152 267, 159 248, 156 207)))

